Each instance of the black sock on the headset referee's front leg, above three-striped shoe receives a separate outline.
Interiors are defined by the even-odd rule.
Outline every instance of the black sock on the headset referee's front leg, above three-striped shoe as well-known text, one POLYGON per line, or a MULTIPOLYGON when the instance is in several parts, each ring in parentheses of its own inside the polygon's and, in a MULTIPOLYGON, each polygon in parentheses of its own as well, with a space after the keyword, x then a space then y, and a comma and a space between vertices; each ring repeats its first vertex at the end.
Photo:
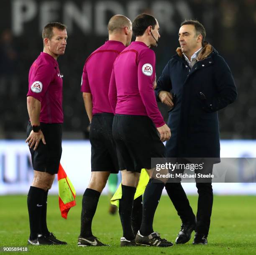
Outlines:
POLYGON ((149 179, 143 195, 143 215, 140 233, 150 235, 153 230, 154 214, 164 189, 164 183, 159 180, 149 179))

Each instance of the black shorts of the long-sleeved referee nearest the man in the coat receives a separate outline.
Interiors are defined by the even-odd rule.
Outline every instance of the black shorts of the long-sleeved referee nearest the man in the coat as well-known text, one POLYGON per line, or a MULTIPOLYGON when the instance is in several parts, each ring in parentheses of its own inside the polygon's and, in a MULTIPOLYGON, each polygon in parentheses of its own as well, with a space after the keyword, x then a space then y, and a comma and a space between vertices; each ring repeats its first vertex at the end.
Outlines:
POLYGON ((116 114, 113 138, 120 170, 141 172, 151 169, 151 158, 164 158, 165 147, 156 126, 148 116, 116 114))

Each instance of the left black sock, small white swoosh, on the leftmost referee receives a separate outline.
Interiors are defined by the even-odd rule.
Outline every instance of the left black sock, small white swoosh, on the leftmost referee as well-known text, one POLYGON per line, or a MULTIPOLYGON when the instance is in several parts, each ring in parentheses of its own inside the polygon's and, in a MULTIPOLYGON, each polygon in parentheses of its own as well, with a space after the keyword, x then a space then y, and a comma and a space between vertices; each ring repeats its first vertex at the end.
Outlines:
POLYGON ((27 199, 29 225, 30 225, 30 240, 36 239, 37 235, 41 234, 41 215, 42 215, 42 208, 44 206, 43 204, 44 195, 45 195, 45 191, 43 189, 30 186, 30 189, 28 191, 28 199, 27 199))

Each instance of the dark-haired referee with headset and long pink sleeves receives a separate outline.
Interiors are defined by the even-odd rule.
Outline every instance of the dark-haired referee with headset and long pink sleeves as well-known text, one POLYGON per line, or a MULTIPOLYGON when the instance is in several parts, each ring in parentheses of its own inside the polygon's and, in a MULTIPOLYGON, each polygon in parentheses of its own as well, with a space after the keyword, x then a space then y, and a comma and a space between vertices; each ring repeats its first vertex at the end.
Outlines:
POLYGON ((152 176, 151 158, 163 158, 171 132, 165 124, 154 96, 155 53, 159 24, 147 14, 133 21, 136 41, 119 54, 113 65, 109 99, 115 117, 113 138, 117 145, 118 162, 122 173, 122 198, 119 213, 124 237, 140 245, 169 247, 172 242, 161 239, 153 230, 153 219, 164 188, 164 182, 149 180, 143 196, 143 218, 138 234, 133 235, 131 212, 133 197, 142 168, 152 176), (160 137, 159 137, 160 135, 160 137), (161 139, 161 140, 160 140, 161 139))

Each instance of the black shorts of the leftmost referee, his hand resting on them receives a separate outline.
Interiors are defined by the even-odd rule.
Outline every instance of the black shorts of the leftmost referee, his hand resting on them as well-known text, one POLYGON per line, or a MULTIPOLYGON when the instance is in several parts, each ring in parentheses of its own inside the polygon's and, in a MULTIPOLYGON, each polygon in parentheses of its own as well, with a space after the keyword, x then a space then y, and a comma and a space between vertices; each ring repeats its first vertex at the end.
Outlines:
MULTIPOLYGON (((58 173, 62 147, 62 124, 40 123, 46 145, 40 141, 38 148, 30 148, 33 169, 40 172, 58 173)), ((31 133, 31 123, 28 122, 27 137, 31 133)))

